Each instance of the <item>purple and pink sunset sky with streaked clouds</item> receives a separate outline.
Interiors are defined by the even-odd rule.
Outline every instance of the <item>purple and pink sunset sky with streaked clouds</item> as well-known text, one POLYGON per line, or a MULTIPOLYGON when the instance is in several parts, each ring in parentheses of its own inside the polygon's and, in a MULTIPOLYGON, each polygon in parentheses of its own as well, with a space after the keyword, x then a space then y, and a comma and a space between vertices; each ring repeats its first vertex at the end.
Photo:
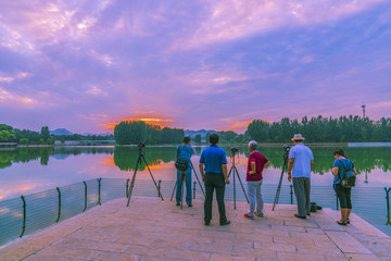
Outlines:
POLYGON ((389 0, 0 0, 0 123, 391 116, 389 0))

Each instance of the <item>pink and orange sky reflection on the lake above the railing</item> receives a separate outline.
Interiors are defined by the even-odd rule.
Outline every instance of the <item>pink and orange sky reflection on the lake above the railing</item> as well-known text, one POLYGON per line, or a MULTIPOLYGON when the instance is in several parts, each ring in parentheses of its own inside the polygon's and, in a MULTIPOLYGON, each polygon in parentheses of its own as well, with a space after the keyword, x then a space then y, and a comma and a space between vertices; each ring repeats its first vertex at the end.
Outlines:
MULTIPOLYGON (((194 169, 199 175, 198 162, 200 157, 192 157, 194 169)), ((239 154, 236 157, 236 165, 242 182, 245 182, 247 157, 239 154)), ((148 161, 148 157, 147 157, 148 161)), ((331 162, 332 163, 332 162, 331 162)), ((331 164, 330 163, 330 164, 331 164)), ((228 169, 231 167, 231 158, 228 158, 228 169)), ((175 181, 176 170, 174 161, 151 165, 151 171, 156 181, 175 181)), ((281 170, 273 166, 264 170, 264 186, 268 184, 278 184, 281 170)), ((113 156, 108 154, 78 154, 70 156, 64 160, 50 157, 48 165, 41 165, 39 160, 28 163, 13 163, 12 166, 1 170, 0 178, 0 200, 7 198, 15 198, 21 195, 43 191, 55 187, 66 186, 83 181, 103 178, 131 178, 133 172, 121 171, 113 160, 113 156)), ((148 170, 139 171, 137 179, 150 179, 148 170)), ((232 177, 230 177, 232 179, 232 177)), ((330 172, 313 174, 313 186, 330 186, 333 176, 330 172)), ((136 179, 136 183, 137 183, 136 179)), ((193 178, 194 179, 194 178, 193 178)), ((391 173, 381 170, 374 170, 368 173, 368 184, 364 183, 365 174, 358 176, 357 187, 383 187, 384 184, 391 184, 391 173)), ((151 181, 152 182, 152 181, 151 181)), ((283 177, 283 185, 288 185, 287 175, 283 177)))

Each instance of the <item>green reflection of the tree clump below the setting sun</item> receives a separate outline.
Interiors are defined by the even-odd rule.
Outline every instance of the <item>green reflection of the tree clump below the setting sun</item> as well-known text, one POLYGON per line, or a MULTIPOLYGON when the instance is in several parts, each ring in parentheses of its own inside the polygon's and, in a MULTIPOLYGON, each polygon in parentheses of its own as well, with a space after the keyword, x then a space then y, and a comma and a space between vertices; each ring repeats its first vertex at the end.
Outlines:
MULTIPOLYGON (((176 159, 175 147, 152 147, 144 149, 144 156, 149 165, 159 165, 161 162, 167 163, 176 159)), ((114 163, 122 171, 134 171, 139 157, 138 147, 118 147, 114 149, 114 163)), ((139 171, 146 170, 142 163, 139 171)))

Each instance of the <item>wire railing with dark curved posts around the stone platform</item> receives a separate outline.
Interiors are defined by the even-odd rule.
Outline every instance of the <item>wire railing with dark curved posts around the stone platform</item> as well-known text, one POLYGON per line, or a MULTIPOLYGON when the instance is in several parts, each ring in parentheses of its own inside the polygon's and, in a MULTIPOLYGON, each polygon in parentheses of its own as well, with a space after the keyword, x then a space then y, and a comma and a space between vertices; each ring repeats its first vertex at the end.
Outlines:
MULTIPOLYGON (((165 200, 169 200, 175 183, 176 181, 159 181, 159 189, 165 200)), ((193 186, 197 187, 195 183, 193 186)), ((0 201, 0 246, 110 200, 125 198, 128 188, 129 179, 97 178, 21 196, 15 199, 2 200, 0 201)), ((277 185, 262 185, 262 195, 265 202, 273 202, 276 189, 277 185)), ((382 188, 354 188, 352 190, 353 212, 391 235, 389 202, 391 188, 384 188, 384 190, 386 198, 382 188), (384 202, 387 208, 384 208, 384 202), (387 223, 384 216, 387 216, 387 223)), ((134 195, 157 197, 156 188, 150 179, 138 181, 134 195)), ((192 196, 193 198, 203 199, 203 194, 200 190, 193 189, 192 196)), ((227 201, 234 200, 232 185, 226 187, 225 198, 227 201)), ((236 198, 238 201, 245 201, 244 194, 238 188, 236 198)), ((311 200, 321 207, 338 209, 338 201, 336 206, 336 195, 330 186, 313 186, 311 200)), ((290 185, 282 185, 279 203, 295 203, 290 185)))

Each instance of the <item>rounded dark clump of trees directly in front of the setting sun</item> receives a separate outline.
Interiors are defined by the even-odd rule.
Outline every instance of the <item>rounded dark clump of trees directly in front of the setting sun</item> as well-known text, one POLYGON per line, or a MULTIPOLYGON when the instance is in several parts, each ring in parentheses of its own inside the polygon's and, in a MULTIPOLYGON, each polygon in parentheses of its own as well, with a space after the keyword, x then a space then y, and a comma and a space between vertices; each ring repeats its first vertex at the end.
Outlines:
POLYGON ((185 130, 180 128, 161 127, 144 122, 121 122, 114 128, 114 139, 118 145, 149 145, 180 144, 185 130))

